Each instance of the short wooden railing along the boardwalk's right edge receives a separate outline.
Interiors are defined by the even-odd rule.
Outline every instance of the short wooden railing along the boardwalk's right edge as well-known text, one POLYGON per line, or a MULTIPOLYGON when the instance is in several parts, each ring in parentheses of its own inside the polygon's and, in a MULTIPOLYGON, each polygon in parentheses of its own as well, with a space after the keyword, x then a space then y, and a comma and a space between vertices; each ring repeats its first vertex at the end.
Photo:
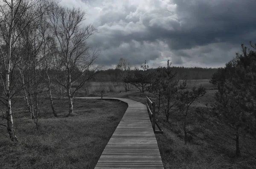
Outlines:
POLYGON ((156 119, 156 103, 151 101, 151 99, 147 96, 147 110, 148 115, 152 124, 152 128, 154 130, 154 133, 161 133, 163 130, 160 128, 160 126, 157 124, 156 119), (158 130, 156 130, 156 126, 158 130))

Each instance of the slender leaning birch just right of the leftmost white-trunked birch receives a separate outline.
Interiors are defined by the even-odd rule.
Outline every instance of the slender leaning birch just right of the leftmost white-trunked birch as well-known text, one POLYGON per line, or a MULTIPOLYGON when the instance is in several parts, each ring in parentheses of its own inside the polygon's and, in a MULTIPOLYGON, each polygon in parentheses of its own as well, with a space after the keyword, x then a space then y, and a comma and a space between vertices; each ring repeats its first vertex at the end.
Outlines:
MULTIPOLYGON (((37 15, 41 15, 41 12, 38 11, 37 15)), ((20 72, 21 86, 31 119, 35 117, 35 105, 33 100, 35 100, 39 92, 37 88, 40 74, 44 71, 40 68, 42 62, 41 51, 43 47, 43 39, 39 32, 40 19, 40 17, 37 17, 37 19, 26 26, 20 34, 17 49, 17 54, 20 56, 17 61, 17 67, 20 72)))

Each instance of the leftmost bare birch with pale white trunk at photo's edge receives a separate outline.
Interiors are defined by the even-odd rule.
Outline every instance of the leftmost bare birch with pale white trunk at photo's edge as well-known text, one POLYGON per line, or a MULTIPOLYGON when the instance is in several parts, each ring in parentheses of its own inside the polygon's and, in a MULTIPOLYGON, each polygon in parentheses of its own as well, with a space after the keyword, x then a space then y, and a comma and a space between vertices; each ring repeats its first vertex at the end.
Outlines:
MULTIPOLYGON (((37 2, 34 0, 3 0, 0 2, 0 36, 1 45, 6 46, 5 49, 0 48, 1 52, 1 82, 3 83, 4 97, 1 102, 6 106, 6 115, 3 118, 7 120, 7 131, 11 140, 17 141, 14 131, 13 113, 11 98, 15 93, 12 92, 10 85, 12 83, 15 72, 17 56, 14 55, 17 40, 26 26, 35 19, 36 10, 32 10, 37 2), (21 22, 22 21, 22 22, 21 22)), ((17 82, 17 80, 15 81, 17 82)))

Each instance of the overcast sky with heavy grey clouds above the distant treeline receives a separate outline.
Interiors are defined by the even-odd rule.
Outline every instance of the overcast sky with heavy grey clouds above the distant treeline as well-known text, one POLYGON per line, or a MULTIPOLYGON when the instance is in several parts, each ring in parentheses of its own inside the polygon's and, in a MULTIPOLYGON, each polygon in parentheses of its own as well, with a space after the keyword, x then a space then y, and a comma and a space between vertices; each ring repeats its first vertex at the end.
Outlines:
POLYGON ((255 0, 62 0, 83 9, 98 30, 90 46, 99 64, 114 68, 119 58, 150 67, 222 67, 256 43, 255 0))

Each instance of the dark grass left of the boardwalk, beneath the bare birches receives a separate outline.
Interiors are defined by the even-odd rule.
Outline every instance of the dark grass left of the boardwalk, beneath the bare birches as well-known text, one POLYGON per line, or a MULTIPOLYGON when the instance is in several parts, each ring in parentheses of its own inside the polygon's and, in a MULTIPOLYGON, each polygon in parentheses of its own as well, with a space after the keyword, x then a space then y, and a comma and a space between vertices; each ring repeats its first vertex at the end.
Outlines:
MULTIPOLYGON (((60 116, 55 118, 47 103, 41 108, 40 131, 32 120, 23 120, 15 130, 19 142, 0 137, 1 169, 93 169, 127 109, 115 100, 75 99, 74 115, 64 117, 67 100, 55 99, 60 116)), ((25 119, 23 105, 17 103, 13 110, 25 119)))

